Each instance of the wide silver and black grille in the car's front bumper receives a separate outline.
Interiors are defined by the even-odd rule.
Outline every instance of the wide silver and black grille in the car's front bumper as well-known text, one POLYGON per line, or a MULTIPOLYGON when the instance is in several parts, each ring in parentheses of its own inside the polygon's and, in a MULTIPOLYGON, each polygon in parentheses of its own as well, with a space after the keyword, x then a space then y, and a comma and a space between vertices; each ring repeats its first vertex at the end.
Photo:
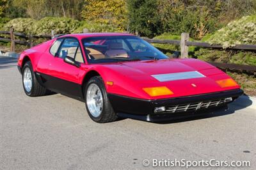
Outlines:
MULTIPOLYGON (((231 99, 232 100, 232 99, 231 99)), ((172 105, 166 107, 164 112, 187 112, 187 111, 197 111, 199 109, 207 109, 209 107, 217 107, 218 105, 225 104, 230 102, 227 98, 222 98, 218 100, 196 102, 192 104, 181 104, 181 105, 172 105)))

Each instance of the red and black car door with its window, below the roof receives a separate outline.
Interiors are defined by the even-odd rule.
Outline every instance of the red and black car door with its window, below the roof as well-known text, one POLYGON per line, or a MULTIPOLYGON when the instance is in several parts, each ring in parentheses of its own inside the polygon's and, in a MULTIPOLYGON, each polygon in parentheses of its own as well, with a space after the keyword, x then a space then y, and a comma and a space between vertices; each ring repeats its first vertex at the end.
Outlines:
POLYGON ((80 63, 84 63, 83 54, 79 41, 76 38, 64 38, 63 42, 52 57, 48 66, 47 86, 58 93, 69 95, 75 98, 82 98, 81 85, 79 79, 81 70, 74 65, 64 62, 65 56, 74 58, 80 63))

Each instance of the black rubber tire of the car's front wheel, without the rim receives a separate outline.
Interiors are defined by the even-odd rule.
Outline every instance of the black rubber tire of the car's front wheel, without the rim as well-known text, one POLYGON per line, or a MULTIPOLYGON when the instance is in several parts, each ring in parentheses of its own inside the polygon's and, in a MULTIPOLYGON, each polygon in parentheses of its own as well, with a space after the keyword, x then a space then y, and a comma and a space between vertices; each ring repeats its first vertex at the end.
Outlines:
POLYGON ((116 121, 118 119, 118 116, 114 112, 114 110, 108 100, 104 82, 102 81, 102 78, 100 76, 92 77, 87 82, 87 84, 84 88, 84 100, 85 100, 86 110, 87 110, 90 118, 92 118, 93 121, 96 121, 97 123, 107 123, 107 122, 111 122, 111 121, 116 121), (100 92, 102 94, 102 98, 103 98, 102 111, 101 111, 100 115, 97 117, 93 116, 92 113, 90 112, 90 110, 88 109, 87 98, 86 98, 88 87, 90 86, 90 84, 93 84, 93 83, 99 87, 100 92))

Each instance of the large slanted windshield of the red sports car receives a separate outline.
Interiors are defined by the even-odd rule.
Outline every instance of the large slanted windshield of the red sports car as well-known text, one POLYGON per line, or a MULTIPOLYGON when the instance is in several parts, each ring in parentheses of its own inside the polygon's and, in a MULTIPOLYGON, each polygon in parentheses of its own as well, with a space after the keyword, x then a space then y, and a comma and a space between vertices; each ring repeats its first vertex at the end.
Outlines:
POLYGON ((167 59, 161 51, 137 36, 84 38, 88 63, 167 59))

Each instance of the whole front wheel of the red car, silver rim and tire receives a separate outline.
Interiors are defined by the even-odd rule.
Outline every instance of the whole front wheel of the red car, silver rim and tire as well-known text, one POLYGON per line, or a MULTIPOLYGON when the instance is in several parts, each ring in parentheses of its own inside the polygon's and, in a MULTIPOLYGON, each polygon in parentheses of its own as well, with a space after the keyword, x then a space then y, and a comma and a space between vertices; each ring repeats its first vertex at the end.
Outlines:
POLYGON ((108 100, 104 82, 100 76, 92 77, 85 86, 86 110, 93 121, 106 123, 117 120, 118 116, 108 100))

